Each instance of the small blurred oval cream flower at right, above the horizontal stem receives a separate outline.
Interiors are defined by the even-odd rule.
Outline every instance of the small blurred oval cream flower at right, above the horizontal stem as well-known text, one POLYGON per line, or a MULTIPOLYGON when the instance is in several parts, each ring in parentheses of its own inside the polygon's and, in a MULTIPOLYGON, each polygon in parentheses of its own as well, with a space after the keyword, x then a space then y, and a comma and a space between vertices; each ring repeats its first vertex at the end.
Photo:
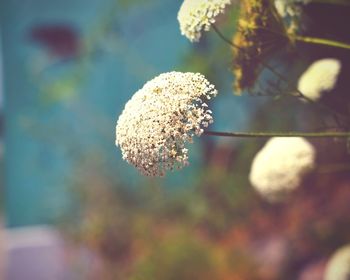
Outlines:
POLYGON ((340 70, 341 62, 337 59, 317 60, 300 77, 298 90, 308 99, 316 101, 324 92, 335 87, 340 70))

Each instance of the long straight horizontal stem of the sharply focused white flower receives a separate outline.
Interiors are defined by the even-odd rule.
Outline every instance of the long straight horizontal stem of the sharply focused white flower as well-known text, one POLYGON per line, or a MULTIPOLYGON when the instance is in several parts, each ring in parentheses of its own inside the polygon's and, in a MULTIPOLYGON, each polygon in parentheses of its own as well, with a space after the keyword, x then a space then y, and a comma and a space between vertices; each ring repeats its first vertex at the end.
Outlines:
POLYGON ((350 137, 350 132, 218 132, 204 131, 204 135, 222 137, 269 138, 269 137, 306 137, 306 138, 338 138, 350 137))

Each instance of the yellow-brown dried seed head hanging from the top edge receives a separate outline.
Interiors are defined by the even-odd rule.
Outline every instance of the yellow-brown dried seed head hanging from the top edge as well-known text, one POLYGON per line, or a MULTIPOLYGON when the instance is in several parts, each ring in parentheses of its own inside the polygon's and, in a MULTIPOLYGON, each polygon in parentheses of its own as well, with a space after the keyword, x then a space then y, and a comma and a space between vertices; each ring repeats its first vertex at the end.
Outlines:
POLYGON ((234 90, 240 94, 257 80, 261 60, 288 42, 283 23, 270 0, 241 1, 237 32, 232 42, 234 90))

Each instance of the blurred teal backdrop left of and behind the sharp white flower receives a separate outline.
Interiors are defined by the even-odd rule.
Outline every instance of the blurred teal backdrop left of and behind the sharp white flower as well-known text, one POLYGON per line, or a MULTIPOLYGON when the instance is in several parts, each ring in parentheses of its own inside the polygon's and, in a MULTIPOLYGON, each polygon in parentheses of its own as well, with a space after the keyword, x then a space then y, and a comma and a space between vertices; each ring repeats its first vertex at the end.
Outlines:
MULTIPOLYGON (((69 204, 72 182, 92 163, 130 187, 150 183, 121 160, 115 123, 133 92, 162 72, 182 70, 196 47, 180 34, 179 6, 173 0, 2 3, 8 226, 53 222, 69 204), (57 24, 77 32, 83 55, 57 59, 31 40, 33 27, 57 24)), ((231 74, 222 70, 227 83, 213 105, 221 108, 213 127, 241 129, 249 101, 232 98, 231 74)), ((157 183, 191 185, 200 149, 191 148, 190 168, 157 183)))

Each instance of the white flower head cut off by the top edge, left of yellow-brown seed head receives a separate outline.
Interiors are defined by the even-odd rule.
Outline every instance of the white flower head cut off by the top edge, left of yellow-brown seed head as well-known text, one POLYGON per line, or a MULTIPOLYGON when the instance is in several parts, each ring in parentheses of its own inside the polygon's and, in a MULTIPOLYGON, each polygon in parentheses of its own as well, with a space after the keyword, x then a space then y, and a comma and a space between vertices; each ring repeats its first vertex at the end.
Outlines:
POLYGON ((231 0, 184 0, 177 16, 181 34, 191 42, 198 42, 202 31, 209 31, 230 3, 231 0))

